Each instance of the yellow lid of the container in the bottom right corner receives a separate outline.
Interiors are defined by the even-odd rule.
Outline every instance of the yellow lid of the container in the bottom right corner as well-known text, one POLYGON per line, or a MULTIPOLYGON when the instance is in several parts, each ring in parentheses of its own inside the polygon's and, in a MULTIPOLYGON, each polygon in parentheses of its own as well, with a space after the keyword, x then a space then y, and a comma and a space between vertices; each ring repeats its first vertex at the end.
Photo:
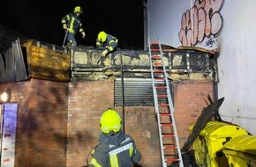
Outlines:
POLYGON ((256 156, 256 136, 239 135, 224 144, 224 149, 236 150, 256 156))

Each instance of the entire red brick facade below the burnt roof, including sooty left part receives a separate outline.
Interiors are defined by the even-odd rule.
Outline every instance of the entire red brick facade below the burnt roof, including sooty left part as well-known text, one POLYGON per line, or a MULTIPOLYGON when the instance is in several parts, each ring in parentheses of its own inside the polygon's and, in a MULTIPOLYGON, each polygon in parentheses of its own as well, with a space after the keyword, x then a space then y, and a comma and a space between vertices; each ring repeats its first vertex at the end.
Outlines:
MULTIPOLYGON (((114 81, 61 83, 32 79, 0 85, 11 89, 19 104, 15 166, 78 167, 98 143, 102 112, 114 108, 114 81)), ((213 83, 175 81, 177 132, 183 146, 189 127, 207 106, 213 83)), ((115 108, 122 115, 122 107, 115 108)), ((158 127, 154 107, 125 106, 124 132, 131 134, 142 153, 143 167, 160 167, 158 127)))

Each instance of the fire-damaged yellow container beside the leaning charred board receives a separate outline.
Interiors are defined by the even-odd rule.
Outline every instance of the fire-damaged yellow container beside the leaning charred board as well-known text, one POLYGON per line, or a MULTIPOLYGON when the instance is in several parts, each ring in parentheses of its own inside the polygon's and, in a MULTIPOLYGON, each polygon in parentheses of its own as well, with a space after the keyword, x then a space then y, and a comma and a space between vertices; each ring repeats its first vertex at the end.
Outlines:
MULTIPOLYGON (((192 131, 193 126, 191 127, 192 131)), ((245 129, 225 122, 209 121, 193 142, 195 158, 200 167, 229 166, 222 155, 223 145, 239 135, 248 134, 245 129)))

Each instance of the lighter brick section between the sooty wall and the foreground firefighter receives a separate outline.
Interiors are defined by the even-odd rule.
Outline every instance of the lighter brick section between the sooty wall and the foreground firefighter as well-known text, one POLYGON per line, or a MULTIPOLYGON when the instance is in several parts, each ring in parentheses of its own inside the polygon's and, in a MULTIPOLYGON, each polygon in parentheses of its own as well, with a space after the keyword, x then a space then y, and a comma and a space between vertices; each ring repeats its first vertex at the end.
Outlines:
POLYGON ((69 85, 67 166, 83 166, 100 135, 102 113, 114 106, 113 81, 88 81, 69 85))

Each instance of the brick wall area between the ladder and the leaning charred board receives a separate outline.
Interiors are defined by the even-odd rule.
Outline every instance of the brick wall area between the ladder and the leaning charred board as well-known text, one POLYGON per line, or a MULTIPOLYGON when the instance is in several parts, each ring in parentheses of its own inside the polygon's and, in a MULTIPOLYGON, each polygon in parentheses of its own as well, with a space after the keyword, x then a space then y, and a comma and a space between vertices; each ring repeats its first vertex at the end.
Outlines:
POLYGON ((213 89, 213 82, 209 80, 174 82, 175 118, 181 147, 189 136, 190 126, 198 120, 203 108, 209 105, 207 94, 213 98, 213 89))

